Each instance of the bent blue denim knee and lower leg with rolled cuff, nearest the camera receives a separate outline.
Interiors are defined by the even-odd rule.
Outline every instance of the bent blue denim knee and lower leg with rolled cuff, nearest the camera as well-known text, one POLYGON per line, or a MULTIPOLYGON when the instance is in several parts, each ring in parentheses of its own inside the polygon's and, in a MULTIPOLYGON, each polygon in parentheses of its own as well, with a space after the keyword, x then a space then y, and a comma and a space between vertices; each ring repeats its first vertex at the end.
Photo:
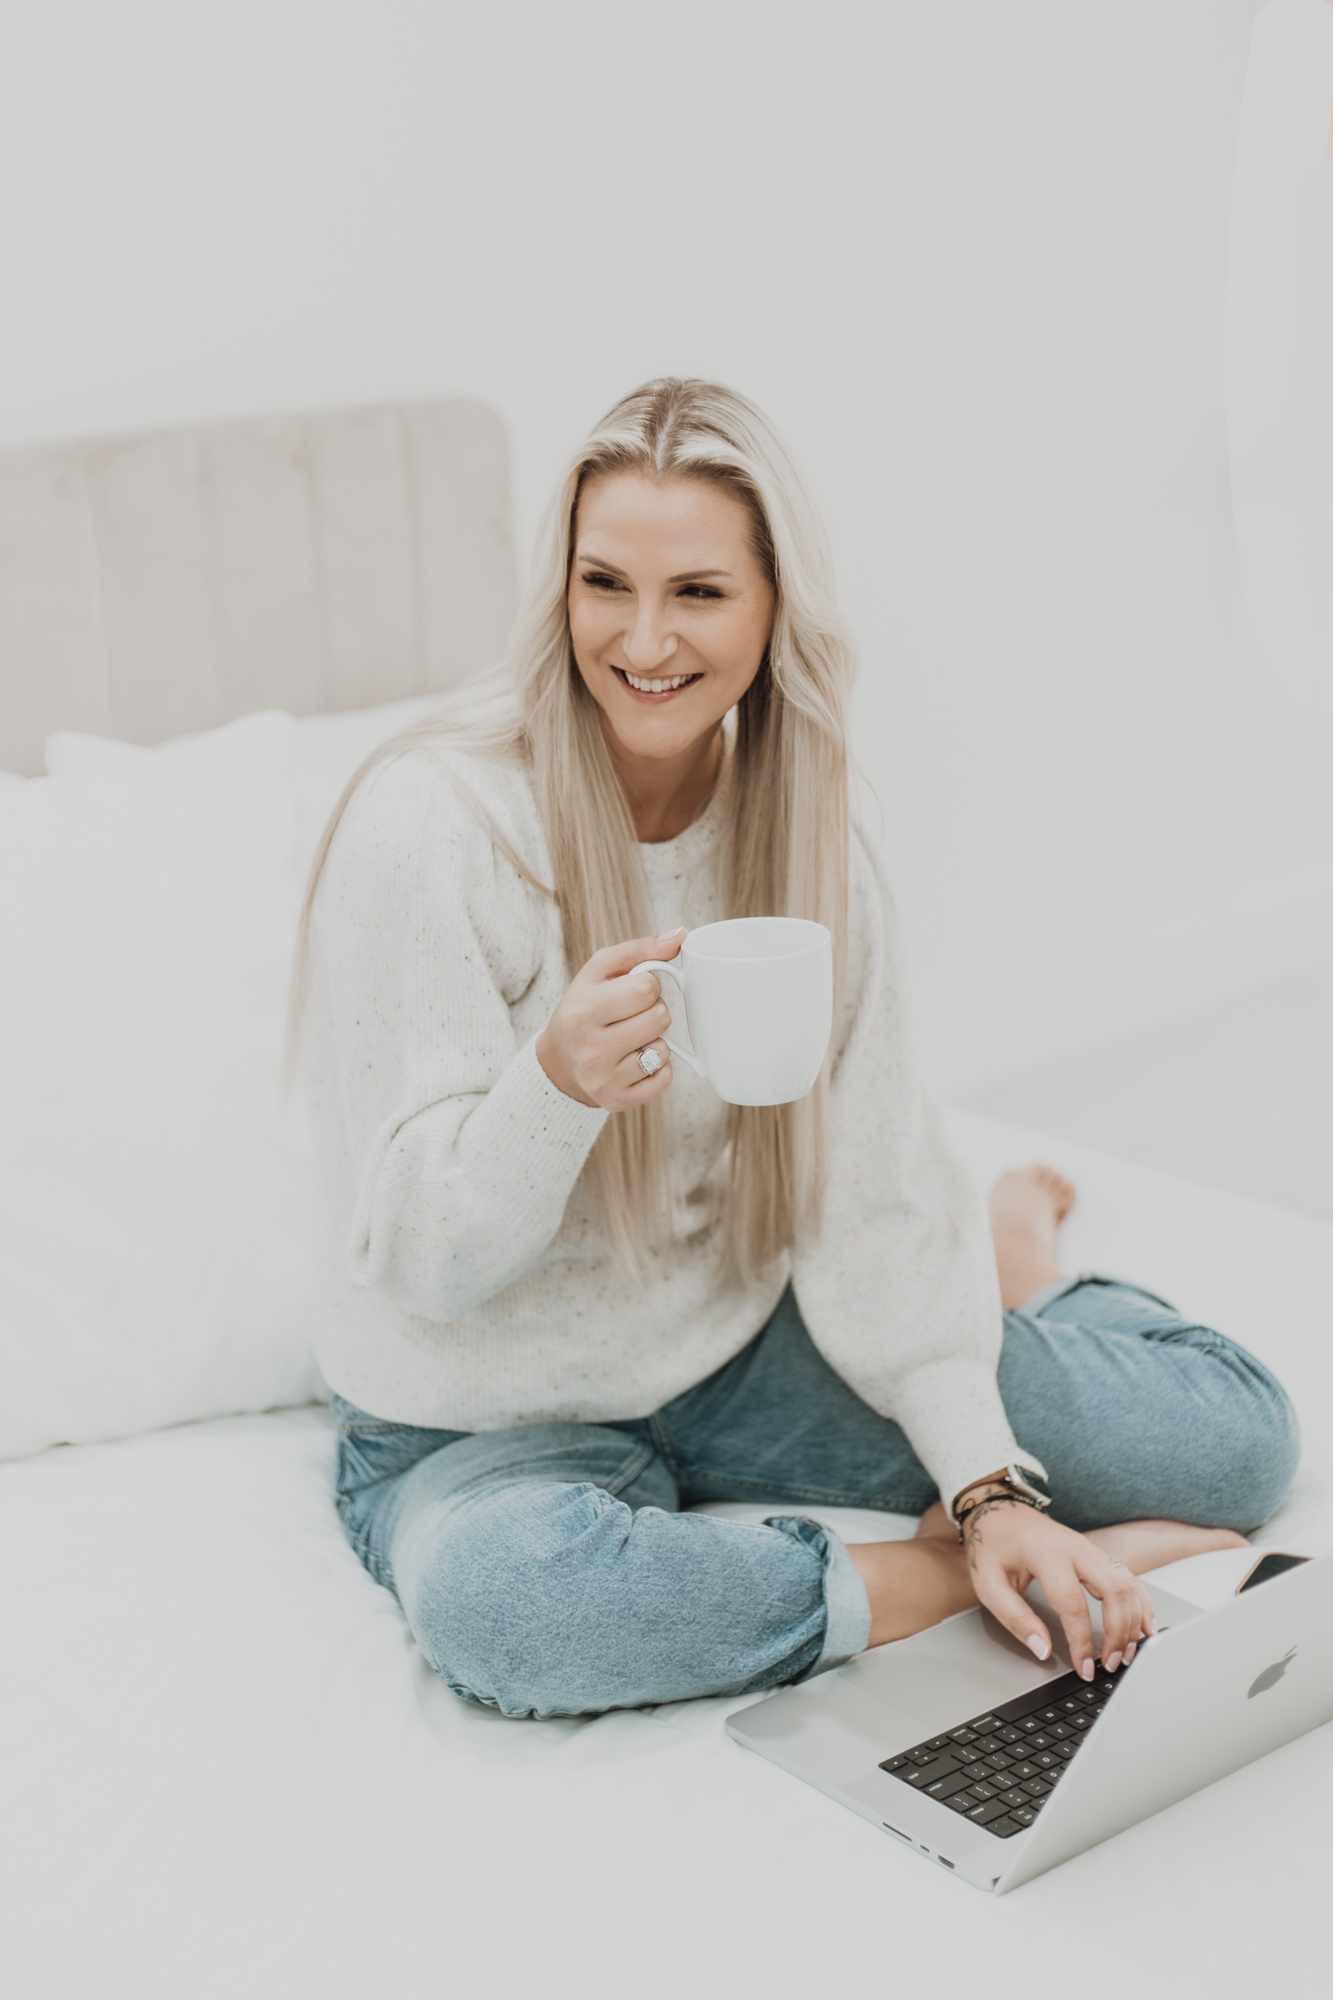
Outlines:
POLYGON ((630 1508, 592 1482, 428 1498, 404 1510, 392 1566, 436 1674, 506 1716, 749 1694, 869 1630, 851 1560, 813 1522, 630 1508))

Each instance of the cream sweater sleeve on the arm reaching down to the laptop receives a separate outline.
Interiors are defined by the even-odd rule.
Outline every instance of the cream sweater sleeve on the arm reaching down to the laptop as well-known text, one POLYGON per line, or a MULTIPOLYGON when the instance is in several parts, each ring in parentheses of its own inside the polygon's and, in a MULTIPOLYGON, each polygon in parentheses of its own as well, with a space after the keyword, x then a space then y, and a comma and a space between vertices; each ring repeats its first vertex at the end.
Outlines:
POLYGON ((1041 1466, 1005 1416, 985 1204, 917 1074, 893 904, 857 838, 849 930, 825 1224, 797 1256, 797 1298, 823 1356, 903 1426, 949 1506, 969 1480, 1013 1458, 1041 1466))

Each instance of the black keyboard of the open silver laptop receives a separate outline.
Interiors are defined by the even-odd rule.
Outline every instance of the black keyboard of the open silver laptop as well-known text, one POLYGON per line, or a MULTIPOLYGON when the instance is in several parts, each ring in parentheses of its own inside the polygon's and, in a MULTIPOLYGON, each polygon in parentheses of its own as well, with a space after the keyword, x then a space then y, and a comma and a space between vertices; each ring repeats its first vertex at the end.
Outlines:
POLYGON ((1093 1680, 1063 1674, 879 1768, 1009 1840, 1035 1824, 1123 1676, 1101 1666, 1093 1680))

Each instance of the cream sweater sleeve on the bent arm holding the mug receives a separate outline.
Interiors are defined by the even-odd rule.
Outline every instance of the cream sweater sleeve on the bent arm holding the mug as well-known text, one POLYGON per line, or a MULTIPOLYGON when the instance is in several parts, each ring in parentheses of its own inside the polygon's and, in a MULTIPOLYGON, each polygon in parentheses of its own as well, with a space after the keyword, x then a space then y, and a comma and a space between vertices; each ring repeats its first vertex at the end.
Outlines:
POLYGON ((546 1250, 606 1120, 556 1090, 510 1016, 558 960, 558 920, 416 754, 348 806, 314 940, 318 1026, 360 1170, 352 1280, 428 1320, 462 1318, 546 1250))

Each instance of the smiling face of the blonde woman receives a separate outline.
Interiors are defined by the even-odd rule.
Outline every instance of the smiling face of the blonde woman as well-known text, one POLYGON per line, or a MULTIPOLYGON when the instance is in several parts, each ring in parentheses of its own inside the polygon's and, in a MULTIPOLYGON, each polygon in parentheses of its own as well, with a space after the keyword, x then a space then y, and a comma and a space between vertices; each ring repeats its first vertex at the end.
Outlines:
POLYGON ((751 512, 713 480, 606 472, 578 496, 574 660, 628 760, 713 740, 765 658, 773 586, 751 512))

